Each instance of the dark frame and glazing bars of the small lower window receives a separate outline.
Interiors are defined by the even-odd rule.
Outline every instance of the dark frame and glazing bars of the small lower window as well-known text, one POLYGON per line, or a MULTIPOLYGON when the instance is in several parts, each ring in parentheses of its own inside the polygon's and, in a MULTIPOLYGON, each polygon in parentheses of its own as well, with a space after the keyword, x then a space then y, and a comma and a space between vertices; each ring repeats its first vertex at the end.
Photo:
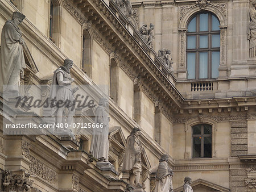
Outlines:
POLYGON ((192 128, 192 158, 212 158, 212 156, 213 156, 212 155, 212 144, 213 144, 213 142, 212 142, 212 130, 213 130, 212 125, 203 123, 203 124, 196 124, 196 125, 192 126, 191 128, 192 128), (210 126, 210 128, 211 128, 211 133, 210 134, 204 134, 204 125, 210 126), (200 126, 201 134, 193 134, 193 129, 196 128, 197 126, 200 126), (193 150, 193 147, 194 147, 193 139, 198 138, 198 137, 201 137, 201 139, 200 139, 200 141, 201 141, 201 143, 200 143, 200 145, 201 145, 201 149, 200 149, 201 154, 200 154, 200 157, 195 157, 194 150, 193 150), (211 143, 210 143, 211 155, 210 155, 210 157, 204 157, 204 137, 210 137, 211 138, 211 143))

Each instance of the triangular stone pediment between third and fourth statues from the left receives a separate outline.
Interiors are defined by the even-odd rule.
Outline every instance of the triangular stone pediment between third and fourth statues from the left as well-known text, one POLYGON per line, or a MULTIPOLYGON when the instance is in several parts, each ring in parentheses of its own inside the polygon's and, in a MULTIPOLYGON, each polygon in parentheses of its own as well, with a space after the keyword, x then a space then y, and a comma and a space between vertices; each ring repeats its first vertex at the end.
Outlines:
POLYGON ((109 137, 110 140, 113 140, 114 143, 118 144, 121 149, 125 149, 125 136, 123 135, 121 127, 115 126, 109 128, 109 137))

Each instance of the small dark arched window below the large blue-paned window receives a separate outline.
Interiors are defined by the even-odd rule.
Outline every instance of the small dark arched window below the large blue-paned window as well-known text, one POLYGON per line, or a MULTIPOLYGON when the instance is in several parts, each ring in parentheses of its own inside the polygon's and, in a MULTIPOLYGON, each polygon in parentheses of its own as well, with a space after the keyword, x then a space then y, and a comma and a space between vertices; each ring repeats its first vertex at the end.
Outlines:
POLYGON ((212 126, 209 124, 192 127, 192 157, 212 157, 212 126))

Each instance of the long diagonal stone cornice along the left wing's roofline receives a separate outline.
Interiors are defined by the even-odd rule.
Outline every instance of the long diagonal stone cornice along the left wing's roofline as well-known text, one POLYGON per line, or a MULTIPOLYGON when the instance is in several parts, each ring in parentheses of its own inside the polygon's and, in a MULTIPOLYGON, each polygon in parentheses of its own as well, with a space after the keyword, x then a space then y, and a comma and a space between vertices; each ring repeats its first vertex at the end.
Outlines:
POLYGON ((126 57, 125 60, 133 61, 128 62, 132 66, 137 64, 139 69, 137 71, 143 76, 142 78, 150 77, 151 81, 154 81, 154 87, 158 87, 157 90, 154 90, 155 94, 164 95, 166 101, 174 102, 175 105, 173 107, 178 108, 184 101, 182 96, 155 65, 151 57, 142 49, 138 41, 134 39, 134 36, 131 36, 124 24, 110 11, 109 7, 101 0, 83 0, 82 3, 86 3, 87 7, 85 10, 81 9, 83 14, 88 17, 88 20, 93 20, 92 24, 104 34, 105 39, 112 41, 114 47, 122 55, 121 57, 126 57))

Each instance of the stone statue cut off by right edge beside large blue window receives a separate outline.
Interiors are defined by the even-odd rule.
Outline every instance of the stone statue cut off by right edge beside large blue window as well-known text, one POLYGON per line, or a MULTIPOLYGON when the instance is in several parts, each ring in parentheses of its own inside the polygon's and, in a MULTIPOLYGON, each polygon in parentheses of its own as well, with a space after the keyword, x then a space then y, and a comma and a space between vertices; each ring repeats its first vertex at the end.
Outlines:
POLYGON ((256 1, 253 1, 252 5, 253 7, 251 7, 248 14, 247 39, 250 40, 250 50, 253 50, 253 53, 250 53, 250 55, 256 56, 256 1))

